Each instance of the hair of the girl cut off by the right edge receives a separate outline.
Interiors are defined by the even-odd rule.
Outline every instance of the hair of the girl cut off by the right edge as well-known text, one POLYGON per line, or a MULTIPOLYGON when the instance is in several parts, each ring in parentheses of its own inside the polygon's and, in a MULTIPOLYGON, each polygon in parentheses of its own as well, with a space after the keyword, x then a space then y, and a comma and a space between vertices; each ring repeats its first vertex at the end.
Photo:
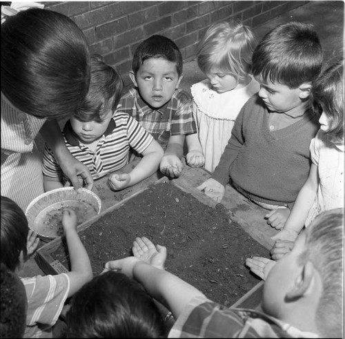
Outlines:
POLYGON ((328 140, 344 144, 344 59, 322 72, 315 80, 312 95, 328 117, 328 140))

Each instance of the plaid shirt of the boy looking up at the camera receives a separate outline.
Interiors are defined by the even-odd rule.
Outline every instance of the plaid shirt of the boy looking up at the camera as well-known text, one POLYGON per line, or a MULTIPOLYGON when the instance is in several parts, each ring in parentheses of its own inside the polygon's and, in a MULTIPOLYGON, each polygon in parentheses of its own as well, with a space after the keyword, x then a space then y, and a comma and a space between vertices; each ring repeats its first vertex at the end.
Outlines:
POLYGON ((172 98, 155 110, 141 99, 136 88, 130 88, 128 93, 121 97, 117 110, 137 119, 164 149, 170 135, 197 133, 192 99, 184 90, 175 90, 172 98))

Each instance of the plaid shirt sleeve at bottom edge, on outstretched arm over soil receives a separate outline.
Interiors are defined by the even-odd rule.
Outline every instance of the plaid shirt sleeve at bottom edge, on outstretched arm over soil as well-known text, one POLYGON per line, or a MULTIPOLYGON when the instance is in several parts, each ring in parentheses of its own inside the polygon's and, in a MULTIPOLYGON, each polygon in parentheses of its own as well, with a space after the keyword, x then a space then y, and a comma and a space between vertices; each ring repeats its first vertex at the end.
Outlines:
POLYGON ((251 309, 229 309, 206 297, 190 301, 168 338, 318 338, 251 309))

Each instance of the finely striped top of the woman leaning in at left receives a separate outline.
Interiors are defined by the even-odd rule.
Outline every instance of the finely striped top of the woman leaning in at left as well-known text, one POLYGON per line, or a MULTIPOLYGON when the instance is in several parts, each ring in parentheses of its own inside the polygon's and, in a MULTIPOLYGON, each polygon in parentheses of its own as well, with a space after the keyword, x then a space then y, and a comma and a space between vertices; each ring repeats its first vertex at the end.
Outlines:
POLYGON ((15 108, 1 93, 1 195, 23 211, 44 193, 42 159, 34 138, 45 122, 15 108))

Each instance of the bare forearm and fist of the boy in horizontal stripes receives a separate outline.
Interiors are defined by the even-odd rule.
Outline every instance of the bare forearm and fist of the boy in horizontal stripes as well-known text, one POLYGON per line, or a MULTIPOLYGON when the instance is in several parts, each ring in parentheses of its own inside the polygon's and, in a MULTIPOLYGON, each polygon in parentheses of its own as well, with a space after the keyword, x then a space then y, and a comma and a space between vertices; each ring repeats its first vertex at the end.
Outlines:
POLYGON ((152 142, 142 154, 142 159, 130 173, 110 175, 108 185, 112 191, 119 191, 133 186, 157 171, 161 157, 164 154, 163 148, 161 148, 158 142, 152 139, 152 142))

